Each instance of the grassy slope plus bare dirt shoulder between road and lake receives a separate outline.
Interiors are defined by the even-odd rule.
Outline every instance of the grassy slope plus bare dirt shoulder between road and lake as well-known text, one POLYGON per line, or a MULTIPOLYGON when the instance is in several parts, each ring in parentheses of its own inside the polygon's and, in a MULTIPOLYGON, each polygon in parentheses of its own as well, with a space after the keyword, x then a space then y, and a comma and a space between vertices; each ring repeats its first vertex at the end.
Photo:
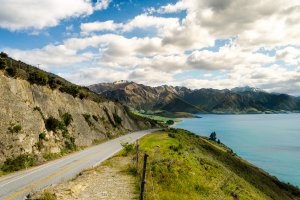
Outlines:
POLYGON ((145 199, 300 199, 298 188, 242 160, 226 146, 188 131, 156 132, 141 138, 139 144, 138 170, 132 162, 135 148, 128 145, 101 166, 80 173, 72 181, 47 187, 33 198, 88 199, 106 191, 110 199, 138 199, 142 156, 147 153, 145 199))

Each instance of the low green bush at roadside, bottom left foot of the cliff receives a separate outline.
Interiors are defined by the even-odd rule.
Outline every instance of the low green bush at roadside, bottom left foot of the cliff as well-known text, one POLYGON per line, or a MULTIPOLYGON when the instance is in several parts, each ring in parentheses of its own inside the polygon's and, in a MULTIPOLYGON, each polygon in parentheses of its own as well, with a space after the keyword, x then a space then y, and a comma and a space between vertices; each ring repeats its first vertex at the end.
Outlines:
POLYGON ((8 158, 1 167, 4 172, 19 171, 21 169, 31 167, 36 160, 33 155, 23 154, 16 158, 8 158))

